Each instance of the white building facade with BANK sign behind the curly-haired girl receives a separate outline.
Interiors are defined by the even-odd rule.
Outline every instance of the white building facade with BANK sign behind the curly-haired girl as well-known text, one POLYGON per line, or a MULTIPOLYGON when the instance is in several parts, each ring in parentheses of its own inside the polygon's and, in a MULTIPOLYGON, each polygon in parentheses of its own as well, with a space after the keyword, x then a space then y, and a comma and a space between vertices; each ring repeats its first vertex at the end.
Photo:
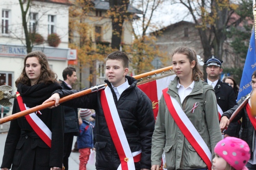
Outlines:
MULTIPOLYGON (((26 0, 22 2, 27 3, 26 0)), ((40 45, 33 44, 32 51, 45 53, 58 79, 63 79, 62 71, 68 65, 69 6, 68 0, 33 0, 26 16, 30 32, 35 31, 44 38, 40 45), (58 47, 48 45, 46 40, 51 33, 59 35, 61 43, 58 47)), ((0 86, 6 84, 15 89, 15 80, 27 55, 19 0, 0 0, 0 11, 0 86)))

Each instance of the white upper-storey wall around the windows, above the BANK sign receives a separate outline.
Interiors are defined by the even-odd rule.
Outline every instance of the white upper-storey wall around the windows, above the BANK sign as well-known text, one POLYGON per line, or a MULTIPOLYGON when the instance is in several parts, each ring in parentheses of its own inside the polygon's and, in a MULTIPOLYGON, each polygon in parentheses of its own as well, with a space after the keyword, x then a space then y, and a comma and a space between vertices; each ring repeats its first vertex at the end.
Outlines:
MULTIPOLYGON (((26 7, 24 5, 24 7, 26 7)), ((22 27, 21 9, 18 0, 1 0, 0 11, 2 20, 2 9, 10 10, 10 33, 8 35, 0 32, 1 43, 25 44, 25 35, 22 27), (22 42, 21 42, 22 41, 22 42)), ((45 41, 48 37, 48 15, 56 15, 55 32, 61 38, 59 48, 68 48, 69 30, 69 6, 64 4, 32 1, 32 7, 27 13, 38 13, 37 33, 40 33, 45 41)), ((0 23, 2 24, 2 22, 0 23)), ((29 22, 28 22, 29 27, 29 22)), ((48 46, 47 42, 41 46, 48 46)))

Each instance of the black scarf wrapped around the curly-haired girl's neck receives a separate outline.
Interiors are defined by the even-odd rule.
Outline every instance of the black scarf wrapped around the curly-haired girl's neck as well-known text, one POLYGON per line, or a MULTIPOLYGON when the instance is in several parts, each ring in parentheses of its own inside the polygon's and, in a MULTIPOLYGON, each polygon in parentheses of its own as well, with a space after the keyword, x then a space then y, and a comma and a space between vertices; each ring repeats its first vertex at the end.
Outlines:
POLYGON ((55 90, 61 89, 60 84, 57 82, 51 84, 40 83, 33 86, 26 86, 19 83, 17 87, 17 91, 19 91, 23 103, 29 108, 42 104, 46 99, 51 97, 55 90))

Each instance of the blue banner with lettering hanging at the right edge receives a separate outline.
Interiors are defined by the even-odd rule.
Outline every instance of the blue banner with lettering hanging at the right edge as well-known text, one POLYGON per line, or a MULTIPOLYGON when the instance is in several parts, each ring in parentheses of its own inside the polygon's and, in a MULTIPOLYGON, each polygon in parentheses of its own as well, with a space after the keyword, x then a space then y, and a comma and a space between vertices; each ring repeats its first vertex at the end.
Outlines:
POLYGON ((252 29, 252 35, 250 37, 250 44, 245 60, 245 66, 243 67, 243 75, 240 82, 239 93, 237 97, 237 101, 241 99, 241 97, 247 95, 252 91, 252 73, 256 70, 256 54, 255 54, 255 32, 254 28, 252 29))

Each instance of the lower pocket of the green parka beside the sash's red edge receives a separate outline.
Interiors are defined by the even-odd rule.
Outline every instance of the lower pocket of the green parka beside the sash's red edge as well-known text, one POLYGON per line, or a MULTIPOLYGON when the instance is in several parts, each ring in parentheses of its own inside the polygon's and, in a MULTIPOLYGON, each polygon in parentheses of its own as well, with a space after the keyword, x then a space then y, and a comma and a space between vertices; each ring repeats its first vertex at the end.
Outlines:
POLYGON ((196 150, 190 144, 187 144, 187 147, 188 147, 188 153, 189 153, 189 166, 197 167, 197 168, 206 167, 206 164, 201 159, 201 157, 197 154, 196 150))

